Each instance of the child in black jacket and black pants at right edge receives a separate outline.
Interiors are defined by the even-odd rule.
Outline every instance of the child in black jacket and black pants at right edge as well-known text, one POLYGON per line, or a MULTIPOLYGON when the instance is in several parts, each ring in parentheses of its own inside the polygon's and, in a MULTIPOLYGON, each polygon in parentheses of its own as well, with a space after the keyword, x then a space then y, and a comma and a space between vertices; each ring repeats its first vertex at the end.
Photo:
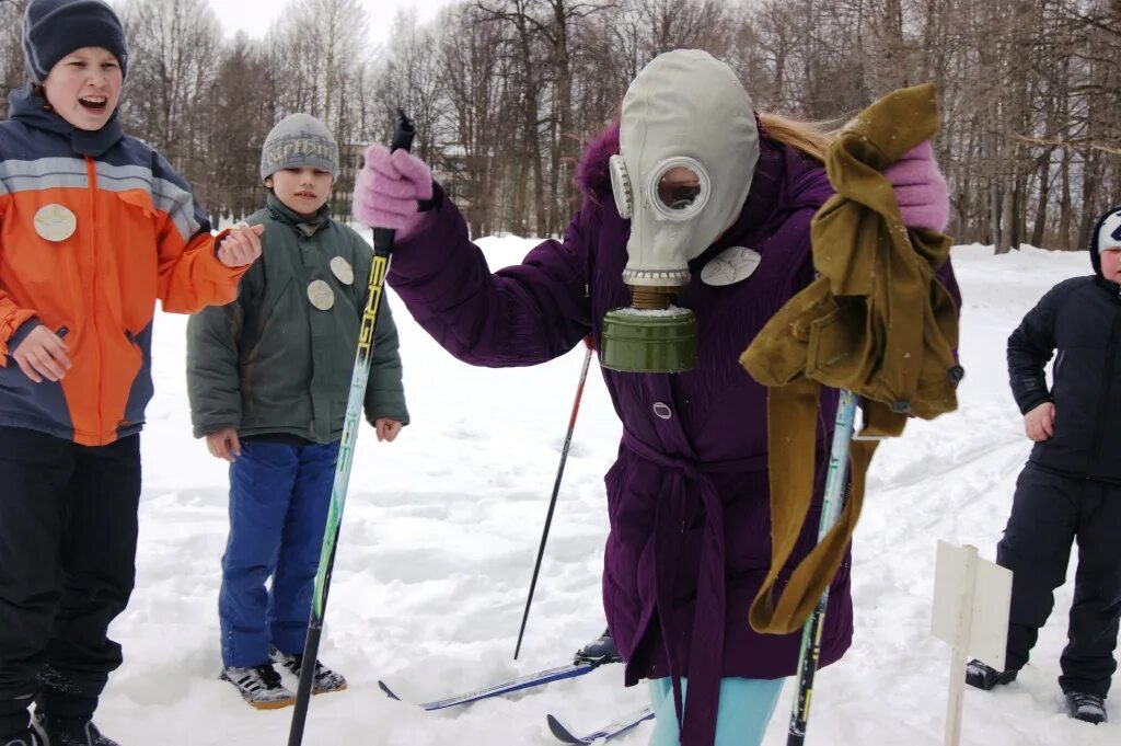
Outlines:
POLYGON ((1121 208, 1091 233, 1094 275, 1050 289, 1008 340, 1012 394, 1036 442, 1020 472, 997 562, 1015 573, 1007 670, 972 661, 980 689, 1016 679, 1078 543, 1069 643, 1060 664, 1071 717, 1106 719, 1121 616, 1121 208), (1057 352, 1051 386, 1044 366, 1057 352))

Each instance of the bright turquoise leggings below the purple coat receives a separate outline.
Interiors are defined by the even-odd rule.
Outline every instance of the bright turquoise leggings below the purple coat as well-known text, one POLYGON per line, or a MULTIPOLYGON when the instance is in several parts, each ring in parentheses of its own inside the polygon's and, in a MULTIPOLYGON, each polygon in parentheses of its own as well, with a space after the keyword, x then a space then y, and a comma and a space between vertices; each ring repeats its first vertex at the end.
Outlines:
MULTIPOLYGON (((759 746, 767 733, 767 724, 775 713, 784 681, 786 680, 721 679, 714 746, 759 746)), ((687 696, 687 690, 688 682, 682 679, 683 697, 687 696)), ((669 679, 650 681, 650 702, 656 716, 650 746, 678 746, 674 688, 669 679)))

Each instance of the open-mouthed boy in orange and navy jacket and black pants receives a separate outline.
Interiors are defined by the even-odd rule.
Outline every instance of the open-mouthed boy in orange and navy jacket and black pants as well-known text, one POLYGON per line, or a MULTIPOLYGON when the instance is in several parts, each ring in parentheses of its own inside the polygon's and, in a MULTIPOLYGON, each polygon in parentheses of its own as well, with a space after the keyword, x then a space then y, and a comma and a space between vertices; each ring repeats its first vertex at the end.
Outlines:
POLYGON ((0 745, 115 746, 92 718, 135 580, 156 300, 229 303, 260 230, 212 237, 122 132, 106 3, 31 0, 22 29, 29 81, 0 122, 0 745))

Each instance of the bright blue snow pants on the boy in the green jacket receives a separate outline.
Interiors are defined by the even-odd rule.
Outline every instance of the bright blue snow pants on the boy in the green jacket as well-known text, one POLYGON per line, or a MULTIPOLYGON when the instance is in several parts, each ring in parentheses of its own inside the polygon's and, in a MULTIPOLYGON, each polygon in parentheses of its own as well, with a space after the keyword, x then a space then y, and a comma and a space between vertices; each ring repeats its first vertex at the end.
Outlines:
POLYGON ((337 458, 337 441, 242 441, 217 600, 223 665, 267 663, 270 644, 304 652, 337 458))

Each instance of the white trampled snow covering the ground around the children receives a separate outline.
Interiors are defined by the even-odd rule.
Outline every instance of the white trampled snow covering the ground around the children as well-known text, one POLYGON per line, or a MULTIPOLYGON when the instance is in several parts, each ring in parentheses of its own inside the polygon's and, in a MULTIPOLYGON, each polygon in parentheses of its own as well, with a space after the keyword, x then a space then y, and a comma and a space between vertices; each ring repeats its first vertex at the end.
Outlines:
MULTIPOLYGON (((498 267, 520 260, 531 242, 482 245, 498 267)), ((1008 390, 1006 340, 1046 289, 1090 271, 1083 252, 1023 248, 995 257, 990 247, 964 246, 953 257, 965 297, 962 407, 910 423, 877 455, 855 538, 856 637, 845 658, 818 675, 810 745, 942 743, 949 652, 929 634, 936 542, 975 544, 993 558, 1030 448, 1008 390)), ((391 301, 414 422, 391 444, 364 425, 359 434, 321 650, 350 690, 314 698, 304 743, 544 746, 557 743, 546 713, 586 733, 641 707, 646 688, 624 689, 618 665, 432 713, 378 689, 385 679, 405 697, 438 699, 562 665, 602 632, 602 475, 621 430, 593 370, 513 662, 583 351, 535 368, 471 368, 391 301)), ((137 590, 112 627, 126 662, 110 679, 99 722, 126 746, 286 743, 290 709, 252 710, 217 680, 226 472, 191 436, 184 328, 183 317, 157 317, 137 590)), ((1074 562, 1072 580, 1073 572, 1074 562)), ((1019 681, 966 692, 963 744, 1121 743, 1117 722, 1093 727, 1060 710, 1055 680, 1069 604, 1071 581, 1019 681)), ((768 746, 786 743, 791 690, 788 682, 768 746)), ((650 727, 615 743, 646 744, 650 727)))

